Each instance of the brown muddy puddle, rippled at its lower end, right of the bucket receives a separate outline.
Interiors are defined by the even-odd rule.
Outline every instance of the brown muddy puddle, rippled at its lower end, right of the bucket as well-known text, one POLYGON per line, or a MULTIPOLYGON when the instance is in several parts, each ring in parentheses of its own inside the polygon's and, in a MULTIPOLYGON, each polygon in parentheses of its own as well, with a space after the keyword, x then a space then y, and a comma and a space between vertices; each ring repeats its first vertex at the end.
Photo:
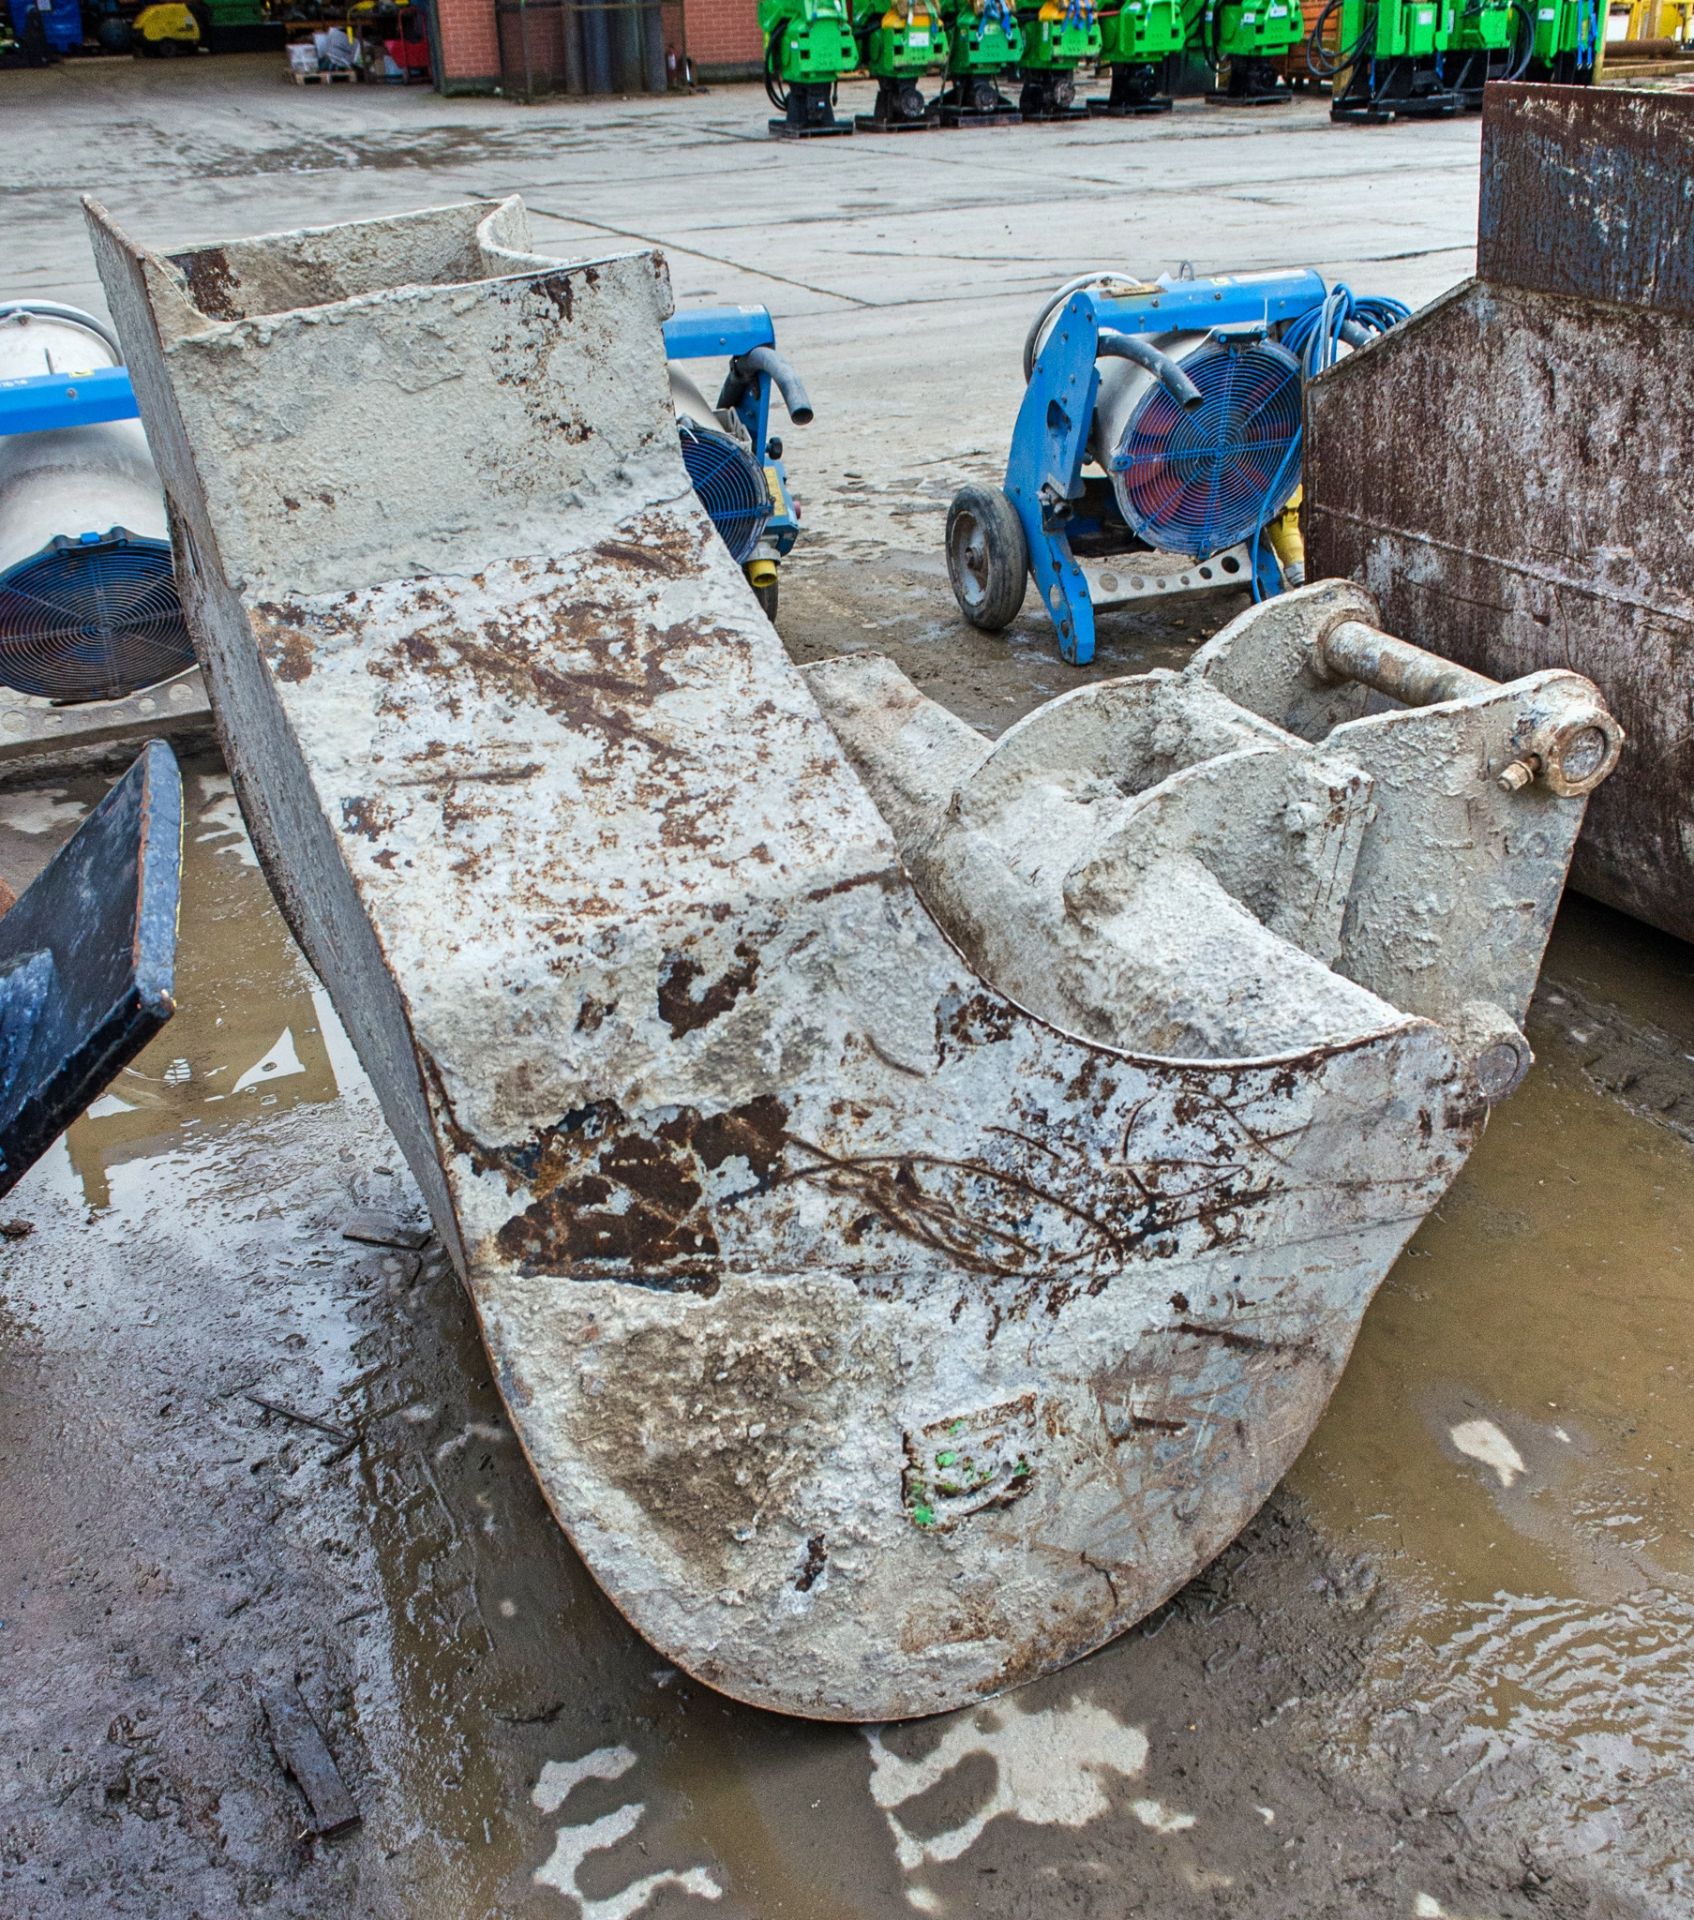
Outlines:
POLYGON ((1540 1064, 1366 1315, 1291 1484, 1410 1596, 1339 1745, 1425 1718, 1460 1763, 1448 1805, 1682 1899, 1694 1146, 1600 1094, 1563 1018, 1533 1021, 1540 1064))

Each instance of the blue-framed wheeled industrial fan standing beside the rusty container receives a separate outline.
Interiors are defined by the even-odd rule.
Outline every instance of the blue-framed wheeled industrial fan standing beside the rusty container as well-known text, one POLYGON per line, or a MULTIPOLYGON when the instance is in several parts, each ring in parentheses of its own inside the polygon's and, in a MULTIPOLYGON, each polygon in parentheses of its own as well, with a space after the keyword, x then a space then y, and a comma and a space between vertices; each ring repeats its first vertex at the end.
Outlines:
POLYGON ((1097 607, 1296 582, 1298 536, 1273 522, 1300 486, 1302 382, 1406 313, 1310 269, 1058 288, 1024 342, 1004 486, 960 488, 947 513, 964 618, 1001 632, 1033 580, 1085 666, 1097 607))

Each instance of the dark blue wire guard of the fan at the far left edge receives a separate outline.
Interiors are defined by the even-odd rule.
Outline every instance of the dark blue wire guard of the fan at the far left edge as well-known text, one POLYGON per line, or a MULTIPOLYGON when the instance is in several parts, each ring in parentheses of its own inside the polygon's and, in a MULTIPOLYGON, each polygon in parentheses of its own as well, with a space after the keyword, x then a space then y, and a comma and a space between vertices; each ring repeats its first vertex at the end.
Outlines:
POLYGON ((115 701, 192 664, 165 540, 61 534, 0 574, 0 684, 17 693, 115 701))

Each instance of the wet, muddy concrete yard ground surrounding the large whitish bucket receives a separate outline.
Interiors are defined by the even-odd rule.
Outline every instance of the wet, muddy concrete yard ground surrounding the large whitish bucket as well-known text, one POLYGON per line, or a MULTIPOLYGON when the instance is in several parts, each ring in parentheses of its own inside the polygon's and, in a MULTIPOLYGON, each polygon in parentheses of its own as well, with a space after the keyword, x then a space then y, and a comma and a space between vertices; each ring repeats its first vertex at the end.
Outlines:
MULTIPOLYGON (((1003 457, 1037 290, 1312 261, 1421 300, 1469 263, 1473 123, 1181 104, 791 152, 762 115, 0 75, 6 292, 98 307, 88 188, 148 242, 520 190, 549 246, 663 244, 684 298, 772 305, 818 403, 789 645, 891 651, 997 730, 1077 676, 1029 616, 966 634, 939 516, 1003 457)), ((1110 616, 1093 672, 1233 611, 1110 616)), ((0 797, 0 874, 96 791, 0 797)), ((1688 948, 1567 902, 1538 1066, 1235 1548, 1081 1667, 868 1738, 684 1682, 599 1597, 442 1256, 342 1238, 417 1196, 221 768, 186 797, 182 1012, 0 1242, 8 1920, 1688 1912, 1688 948), (259 1715, 296 1676, 363 1811, 330 1843, 259 1715)))

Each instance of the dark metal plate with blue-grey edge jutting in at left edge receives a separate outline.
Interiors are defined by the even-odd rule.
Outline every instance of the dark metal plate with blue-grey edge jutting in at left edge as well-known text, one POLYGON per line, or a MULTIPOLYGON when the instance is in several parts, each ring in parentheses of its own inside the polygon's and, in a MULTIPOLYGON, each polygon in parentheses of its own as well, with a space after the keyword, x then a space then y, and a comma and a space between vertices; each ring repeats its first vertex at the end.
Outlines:
POLYGON ((0 1194, 175 1008, 182 781, 163 741, 0 918, 0 1194))

